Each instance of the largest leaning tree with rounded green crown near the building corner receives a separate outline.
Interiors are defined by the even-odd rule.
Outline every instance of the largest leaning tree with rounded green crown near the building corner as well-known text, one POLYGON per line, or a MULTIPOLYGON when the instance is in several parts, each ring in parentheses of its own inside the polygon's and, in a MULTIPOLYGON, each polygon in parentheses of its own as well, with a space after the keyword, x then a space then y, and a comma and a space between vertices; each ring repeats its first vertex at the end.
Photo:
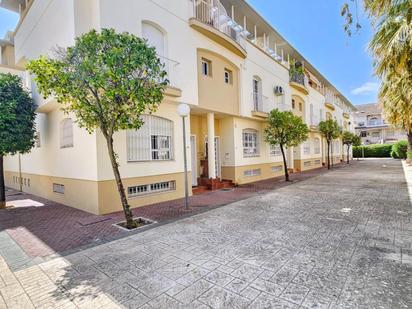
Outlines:
POLYGON ((127 228, 136 227, 119 172, 113 134, 139 129, 142 115, 157 109, 168 84, 156 49, 127 32, 92 30, 60 49, 57 59, 45 56, 28 65, 44 97, 54 96, 89 133, 106 139, 127 228))

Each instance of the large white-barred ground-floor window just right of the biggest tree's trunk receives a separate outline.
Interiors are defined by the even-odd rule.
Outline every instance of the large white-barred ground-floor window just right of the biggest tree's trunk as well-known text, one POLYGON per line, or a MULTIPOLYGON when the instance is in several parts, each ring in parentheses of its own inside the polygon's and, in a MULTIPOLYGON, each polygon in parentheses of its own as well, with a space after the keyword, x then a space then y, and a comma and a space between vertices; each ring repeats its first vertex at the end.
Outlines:
POLYGON ((139 130, 127 131, 129 162, 173 159, 173 122, 152 115, 143 115, 139 130))

